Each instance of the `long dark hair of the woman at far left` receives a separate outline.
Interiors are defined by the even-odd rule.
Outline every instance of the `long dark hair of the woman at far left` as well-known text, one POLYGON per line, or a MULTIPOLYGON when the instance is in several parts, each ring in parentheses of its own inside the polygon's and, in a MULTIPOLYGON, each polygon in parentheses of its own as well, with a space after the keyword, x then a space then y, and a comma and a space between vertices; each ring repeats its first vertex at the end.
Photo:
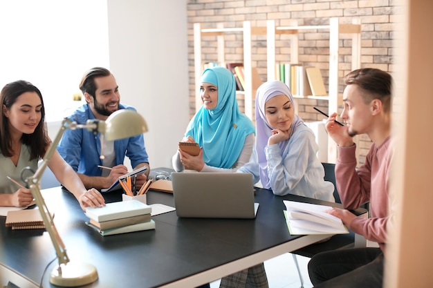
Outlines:
POLYGON ((35 132, 32 134, 23 134, 21 136, 21 143, 30 146, 30 160, 40 159, 44 157, 46 151, 46 145, 48 144, 48 134, 46 132, 45 124, 45 108, 44 100, 42 99, 41 91, 36 86, 33 86, 28 81, 19 80, 6 84, 1 89, 0 93, 0 149, 1 153, 5 157, 11 157, 13 155, 12 142, 10 137, 9 119, 5 116, 4 108, 10 109, 10 107, 17 102, 17 98, 26 92, 35 92, 39 99, 41 99, 41 121, 37 124, 35 132))

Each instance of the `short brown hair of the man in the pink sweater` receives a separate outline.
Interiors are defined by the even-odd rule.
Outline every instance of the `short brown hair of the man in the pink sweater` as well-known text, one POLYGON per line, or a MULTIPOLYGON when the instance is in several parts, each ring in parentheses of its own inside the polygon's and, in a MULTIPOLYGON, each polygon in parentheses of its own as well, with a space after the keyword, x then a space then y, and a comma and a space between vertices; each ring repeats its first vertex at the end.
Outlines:
POLYGON ((367 92, 362 95, 365 104, 379 99, 382 102, 383 110, 387 113, 391 111, 392 77, 389 73, 376 68, 357 69, 346 75, 344 84, 358 85, 367 92))

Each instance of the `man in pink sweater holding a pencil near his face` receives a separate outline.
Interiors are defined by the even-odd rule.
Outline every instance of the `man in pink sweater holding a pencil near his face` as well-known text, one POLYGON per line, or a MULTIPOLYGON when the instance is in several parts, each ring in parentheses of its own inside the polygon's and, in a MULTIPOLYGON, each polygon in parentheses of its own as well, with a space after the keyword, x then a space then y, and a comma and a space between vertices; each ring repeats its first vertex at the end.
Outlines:
POLYGON ((314 287, 382 287, 387 224, 389 221, 389 167, 391 148, 391 75, 375 68, 353 70, 345 78, 345 125, 330 115, 326 131, 338 144, 335 178, 344 209, 330 214, 351 231, 379 248, 354 248, 318 253, 308 263, 314 287), (365 164, 356 169, 356 145, 352 137, 366 133, 373 144, 365 164), (356 217, 347 209, 369 202, 371 218, 356 217))

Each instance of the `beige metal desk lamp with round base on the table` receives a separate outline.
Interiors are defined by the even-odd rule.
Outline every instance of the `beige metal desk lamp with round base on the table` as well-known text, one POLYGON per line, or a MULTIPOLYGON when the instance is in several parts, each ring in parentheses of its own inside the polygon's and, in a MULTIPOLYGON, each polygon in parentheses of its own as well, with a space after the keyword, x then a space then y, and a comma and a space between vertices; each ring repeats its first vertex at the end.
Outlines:
POLYGON ((40 164, 33 176, 26 178, 26 182, 30 186, 30 191, 35 198, 37 207, 39 207, 46 231, 48 231, 48 234, 50 235, 51 242, 53 242, 59 261, 59 265, 51 271, 50 282, 54 285, 63 287, 82 286, 94 282, 98 279, 98 271, 96 271, 96 268, 93 265, 71 262, 69 260, 68 255, 66 254, 66 247, 55 228, 53 217, 49 213, 45 200, 42 197, 39 189, 39 182, 42 174, 48 166, 48 162, 50 162, 51 157, 53 157, 53 153, 55 152, 57 144, 62 138, 64 131, 66 129, 75 130, 83 128, 86 128, 88 131, 92 131, 93 133, 102 133, 107 140, 118 140, 147 132, 145 119, 135 111, 127 109, 121 109, 112 113, 106 121, 91 119, 88 120, 86 124, 77 124, 76 122, 72 122, 65 118, 55 139, 46 151, 42 164, 40 164))

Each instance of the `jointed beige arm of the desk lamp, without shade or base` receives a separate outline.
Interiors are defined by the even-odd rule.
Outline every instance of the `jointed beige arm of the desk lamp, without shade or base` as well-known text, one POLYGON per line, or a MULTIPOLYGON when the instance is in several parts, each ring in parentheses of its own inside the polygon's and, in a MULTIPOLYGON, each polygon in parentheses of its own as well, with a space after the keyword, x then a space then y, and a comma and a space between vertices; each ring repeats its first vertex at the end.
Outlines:
POLYGON ((42 163, 39 165, 37 171, 33 174, 33 176, 26 178, 26 182, 30 186, 30 191, 32 192, 33 198, 35 198, 37 207, 39 207, 42 220, 44 220, 45 229, 50 235, 51 242, 53 242, 53 246, 59 260, 59 265, 66 265, 66 263, 69 262, 69 258, 66 254, 66 247, 64 246, 64 243, 55 227, 53 216, 48 211, 48 207, 46 206, 45 200, 42 197, 41 191, 39 189, 39 182, 41 181, 42 174, 48 166, 51 157, 53 157, 53 154, 56 151, 57 144, 59 144, 60 140, 62 139, 64 131, 66 131, 66 129, 75 130, 77 128, 87 128, 89 131, 96 133, 98 132, 98 120, 89 120, 86 122, 86 124, 77 124, 76 122, 72 122, 70 119, 64 118, 59 132, 55 136, 53 142, 50 143, 50 146, 48 147, 48 150, 46 151, 42 163))

